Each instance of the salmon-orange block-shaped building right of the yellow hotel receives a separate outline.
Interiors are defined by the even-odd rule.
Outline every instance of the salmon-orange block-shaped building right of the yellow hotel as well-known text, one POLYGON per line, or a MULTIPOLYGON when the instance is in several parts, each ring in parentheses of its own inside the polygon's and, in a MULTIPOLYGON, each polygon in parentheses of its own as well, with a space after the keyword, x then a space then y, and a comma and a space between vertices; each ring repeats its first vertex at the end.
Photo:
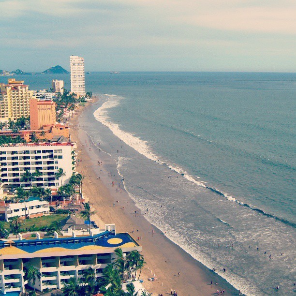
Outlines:
POLYGON ((44 125, 56 123, 56 103, 47 100, 30 99, 30 127, 39 130, 44 125))

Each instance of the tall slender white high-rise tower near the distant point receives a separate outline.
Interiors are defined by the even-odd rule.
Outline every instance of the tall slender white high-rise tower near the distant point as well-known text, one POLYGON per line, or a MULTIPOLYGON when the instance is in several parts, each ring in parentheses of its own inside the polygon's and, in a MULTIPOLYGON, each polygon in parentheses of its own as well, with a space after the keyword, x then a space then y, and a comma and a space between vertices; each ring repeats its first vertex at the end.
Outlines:
POLYGON ((70 57, 71 92, 78 97, 85 96, 84 58, 70 57))

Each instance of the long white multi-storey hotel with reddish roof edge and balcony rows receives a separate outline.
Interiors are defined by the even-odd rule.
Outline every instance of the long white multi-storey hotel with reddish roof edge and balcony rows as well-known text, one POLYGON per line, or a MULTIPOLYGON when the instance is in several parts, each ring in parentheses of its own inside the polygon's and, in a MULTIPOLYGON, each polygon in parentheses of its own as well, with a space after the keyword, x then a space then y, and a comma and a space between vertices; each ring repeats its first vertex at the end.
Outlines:
POLYGON ((1 189, 5 192, 14 191, 22 186, 59 187, 69 181, 75 171, 75 148, 71 142, 63 143, 20 143, 0 146, 0 178, 1 189), (65 176, 56 178, 59 168, 65 176), (38 179, 21 181, 28 170, 31 174, 40 170, 38 179))

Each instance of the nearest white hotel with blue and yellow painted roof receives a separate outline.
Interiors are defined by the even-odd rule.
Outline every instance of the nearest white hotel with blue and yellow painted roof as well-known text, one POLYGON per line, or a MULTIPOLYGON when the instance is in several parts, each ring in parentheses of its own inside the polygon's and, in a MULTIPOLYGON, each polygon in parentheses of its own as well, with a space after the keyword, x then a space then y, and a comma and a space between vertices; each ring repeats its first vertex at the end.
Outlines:
MULTIPOLYGON (((61 289, 71 278, 81 279, 84 271, 91 267, 97 278, 103 276, 103 269, 113 264, 117 259, 115 249, 121 248, 124 255, 142 251, 136 241, 127 233, 115 232, 114 224, 105 225, 105 231, 90 230, 90 234, 36 239, 0 240, 0 291, 25 292, 25 270, 32 264, 41 273, 41 279, 36 279, 35 288, 61 289)), ((28 283, 31 287, 32 282, 28 283)))

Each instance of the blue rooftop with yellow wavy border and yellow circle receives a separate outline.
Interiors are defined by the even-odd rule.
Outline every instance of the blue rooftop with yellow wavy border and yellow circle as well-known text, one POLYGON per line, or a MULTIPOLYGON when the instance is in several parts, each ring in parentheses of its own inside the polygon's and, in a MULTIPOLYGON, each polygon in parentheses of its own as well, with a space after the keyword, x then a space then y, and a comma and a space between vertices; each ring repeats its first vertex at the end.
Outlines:
POLYGON ((104 231, 94 236, 44 237, 40 239, 0 240, 0 255, 71 252, 106 248, 133 248, 139 245, 127 233, 104 231))

